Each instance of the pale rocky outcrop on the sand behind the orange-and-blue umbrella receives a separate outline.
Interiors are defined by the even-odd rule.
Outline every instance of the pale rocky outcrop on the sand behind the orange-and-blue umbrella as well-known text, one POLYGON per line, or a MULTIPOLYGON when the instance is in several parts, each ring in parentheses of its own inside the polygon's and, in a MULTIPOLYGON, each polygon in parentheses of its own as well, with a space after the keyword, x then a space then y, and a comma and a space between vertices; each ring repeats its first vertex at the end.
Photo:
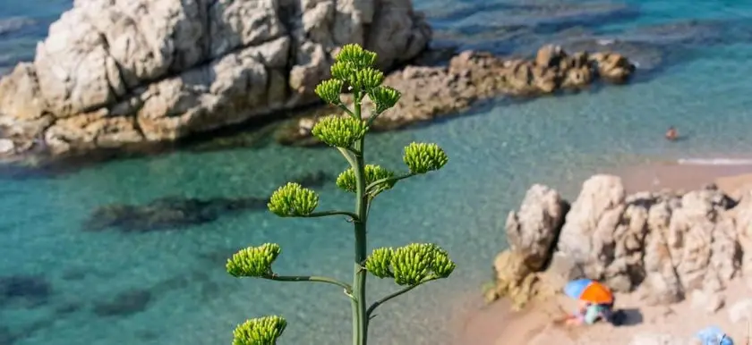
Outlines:
POLYGON ((714 313, 724 304, 727 283, 752 275, 752 260, 742 256, 752 253, 750 203, 749 192, 734 200, 713 185, 687 193, 628 194, 619 177, 596 175, 583 183, 560 224, 555 220, 564 208, 553 205, 566 201, 535 185, 508 217, 510 246, 494 262, 497 282, 490 297, 508 295, 513 283, 521 286, 514 296, 521 304, 543 285, 558 290, 568 280, 590 278, 612 290, 637 291, 647 304, 691 297, 697 309, 714 313), (531 198, 542 190, 551 197, 531 198), (550 263, 538 265, 542 261, 550 263), (516 265, 525 269, 508 269, 516 265), (528 281, 535 283, 517 283, 528 281))

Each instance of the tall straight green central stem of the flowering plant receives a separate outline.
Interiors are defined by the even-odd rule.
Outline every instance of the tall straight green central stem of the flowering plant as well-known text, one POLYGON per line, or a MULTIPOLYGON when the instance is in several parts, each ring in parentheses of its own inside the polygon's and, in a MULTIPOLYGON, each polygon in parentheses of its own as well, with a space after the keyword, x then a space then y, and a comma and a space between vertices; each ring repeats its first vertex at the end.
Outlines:
MULTIPOLYGON (((361 118, 360 92, 355 94, 355 117, 361 118)), ((365 163, 363 159, 364 139, 355 143, 355 267, 353 277, 353 345, 366 345, 368 339, 368 317, 366 313, 365 278, 363 265, 366 258, 366 222, 368 221, 368 195, 365 190, 365 163)))

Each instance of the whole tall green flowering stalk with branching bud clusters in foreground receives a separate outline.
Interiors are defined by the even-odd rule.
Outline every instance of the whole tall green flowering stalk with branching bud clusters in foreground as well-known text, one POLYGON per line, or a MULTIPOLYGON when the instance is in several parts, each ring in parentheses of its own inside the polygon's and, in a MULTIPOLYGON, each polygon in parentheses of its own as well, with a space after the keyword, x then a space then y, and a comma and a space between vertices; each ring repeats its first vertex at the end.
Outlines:
MULTIPOLYGON (((443 248, 432 243, 412 243, 397 248, 375 248, 367 254, 366 225, 373 199, 391 189, 397 181, 439 170, 449 158, 436 144, 411 143, 405 147, 403 160, 408 173, 397 174, 364 160, 365 136, 371 123, 384 111, 397 104, 400 93, 381 85, 383 72, 375 69, 376 54, 358 45, 346 45, 331 67, 331 80, 324 80, 316 94, 329 105, 337 106, 344 116, 329 116, 317 122, 312 134, 345 157, 350 167, 337 178, 337 185, 355 195, 353 211, 316 211, 320 204, 318 193, 297 183, 280 187, 269 200, 269 210, 281 217, 346 216, 355 230, 355 258, 352 284, 323 276, 280 275, 272 265, 282 249, 273 243, 244 248, 227 260, 227 273, 235 277, 257 277, 281 282, 326 282, 344 290, 352 302, 353 345, 365 345, 368 325, 374 311, 389 299, 413 290, 433 280, 447 278, 455 263, 443 248), (354 94, 350 109, 342 100, 343 89, 354 94), (375 107, 372 115, 363 118, 363 98, 369 97, 375 107), (366 299, 366 276, 393 279, 402 288, 376 299, 370 305, 366 299)), ((280 316, 264 316, 246 321, 235 329, 233 345, 272 345, 286 328, 280 316)))

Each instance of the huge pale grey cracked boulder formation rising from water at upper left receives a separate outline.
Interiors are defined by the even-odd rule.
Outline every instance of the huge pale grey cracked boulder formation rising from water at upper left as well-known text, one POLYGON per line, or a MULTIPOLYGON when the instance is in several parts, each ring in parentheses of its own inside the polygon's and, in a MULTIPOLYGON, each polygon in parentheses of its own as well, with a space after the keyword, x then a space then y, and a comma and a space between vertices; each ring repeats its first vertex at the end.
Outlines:
POLYGON ((0 81, 0 147, 171 140, 315 101, 338 46, 389 68, 431 29, 410 0, 77 0, 0 81))

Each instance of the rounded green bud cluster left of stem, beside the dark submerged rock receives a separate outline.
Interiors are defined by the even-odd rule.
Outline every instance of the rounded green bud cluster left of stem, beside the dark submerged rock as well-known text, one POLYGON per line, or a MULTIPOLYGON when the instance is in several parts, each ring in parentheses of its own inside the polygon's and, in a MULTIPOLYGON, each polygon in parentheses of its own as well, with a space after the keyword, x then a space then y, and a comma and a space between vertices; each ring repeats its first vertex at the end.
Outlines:
POLYGON ((267 206, 280 217, 311 215, 319 206, 319 195, 298 183, 288 182, 274 191, 267 206))

